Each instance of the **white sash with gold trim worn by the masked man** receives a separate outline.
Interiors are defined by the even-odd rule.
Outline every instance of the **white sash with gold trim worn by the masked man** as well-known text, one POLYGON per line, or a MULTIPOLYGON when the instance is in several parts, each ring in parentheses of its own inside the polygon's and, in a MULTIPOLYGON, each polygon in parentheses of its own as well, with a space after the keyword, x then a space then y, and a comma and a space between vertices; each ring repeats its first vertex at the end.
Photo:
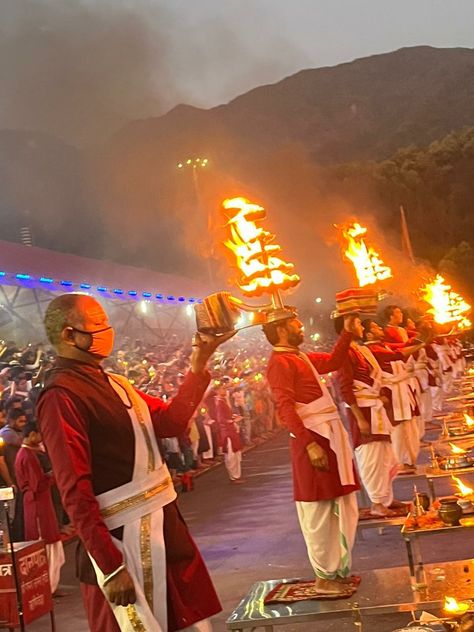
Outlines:
MULTIPOLYGON (((128 409, 135 435, 135 462, 130 483, 100 494, 97 500, 109 529, 124 526, 122 541, 114 539, 114 543, 123 553, 137 593, 134 605, 110 605, 121 632, 166 632, 163 506, 176 498, 176 491, 162 462, 146 402, 123 376, 108 378, 128 409)), ((104 592, 104 575, 91 560, 104 592)))

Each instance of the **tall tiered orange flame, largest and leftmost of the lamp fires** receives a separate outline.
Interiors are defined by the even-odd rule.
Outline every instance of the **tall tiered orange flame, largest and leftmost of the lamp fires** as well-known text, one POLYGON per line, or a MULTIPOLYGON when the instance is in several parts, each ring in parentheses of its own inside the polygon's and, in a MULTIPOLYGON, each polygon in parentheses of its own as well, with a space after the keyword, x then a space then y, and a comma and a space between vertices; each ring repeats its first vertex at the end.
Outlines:
POLYGON ((242 292, 260 296, 298 285, 299 276, 291 273, 294 265, 276 256, 281 247, 271 243, 275 235, 256 225, 265 219, 265 209, 243 197, 224 200, 222 205, 236 211, 227 222, 230 238, 224 243, 234 253, 242 273, 237 283, 242 292))

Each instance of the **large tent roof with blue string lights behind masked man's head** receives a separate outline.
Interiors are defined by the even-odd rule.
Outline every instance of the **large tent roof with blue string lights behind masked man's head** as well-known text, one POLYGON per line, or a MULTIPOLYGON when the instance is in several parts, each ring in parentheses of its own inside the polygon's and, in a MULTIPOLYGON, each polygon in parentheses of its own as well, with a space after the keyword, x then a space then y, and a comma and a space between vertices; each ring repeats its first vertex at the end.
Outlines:
POLYGON ((166 345, 194 329, 203 290, 178 275, 0 241, 0 337, 19 343, 44 340, 54 296, 83 292, 104 305, 118 338, 166 345))

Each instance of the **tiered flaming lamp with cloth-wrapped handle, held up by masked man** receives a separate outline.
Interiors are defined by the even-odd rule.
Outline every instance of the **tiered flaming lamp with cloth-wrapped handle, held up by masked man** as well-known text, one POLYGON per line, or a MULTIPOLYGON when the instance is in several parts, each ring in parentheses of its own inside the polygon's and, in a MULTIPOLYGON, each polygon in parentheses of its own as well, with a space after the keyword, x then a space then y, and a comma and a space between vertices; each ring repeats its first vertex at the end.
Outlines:
POLYGON ((224 200, 228 238, 225 246, 235 256, 239 278, 236 285, 248 298, 267 295, 268 303, 250 305, 230 292, 217 292, 195 305, 198 331, 223 334, 238 328, 242 312, 249 312, 250 323, 258 325, 291 318, 293 311, 285 307, 281 293, 296 287, 300 277, 294 265, 281 256, 275 235, 257 224, 265 219, 262 206, 243 197, 224 200))

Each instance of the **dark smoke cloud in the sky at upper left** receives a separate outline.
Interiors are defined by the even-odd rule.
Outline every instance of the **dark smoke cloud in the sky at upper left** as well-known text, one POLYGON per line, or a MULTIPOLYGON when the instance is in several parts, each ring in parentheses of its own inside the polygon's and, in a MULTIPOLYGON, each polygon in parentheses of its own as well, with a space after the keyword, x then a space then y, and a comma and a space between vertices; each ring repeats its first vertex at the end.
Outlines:
POLYGON ((2 0, 0 126, 85 146, 177 99, 166 58, 171 17, 162 6, 127 4, 2 0))

